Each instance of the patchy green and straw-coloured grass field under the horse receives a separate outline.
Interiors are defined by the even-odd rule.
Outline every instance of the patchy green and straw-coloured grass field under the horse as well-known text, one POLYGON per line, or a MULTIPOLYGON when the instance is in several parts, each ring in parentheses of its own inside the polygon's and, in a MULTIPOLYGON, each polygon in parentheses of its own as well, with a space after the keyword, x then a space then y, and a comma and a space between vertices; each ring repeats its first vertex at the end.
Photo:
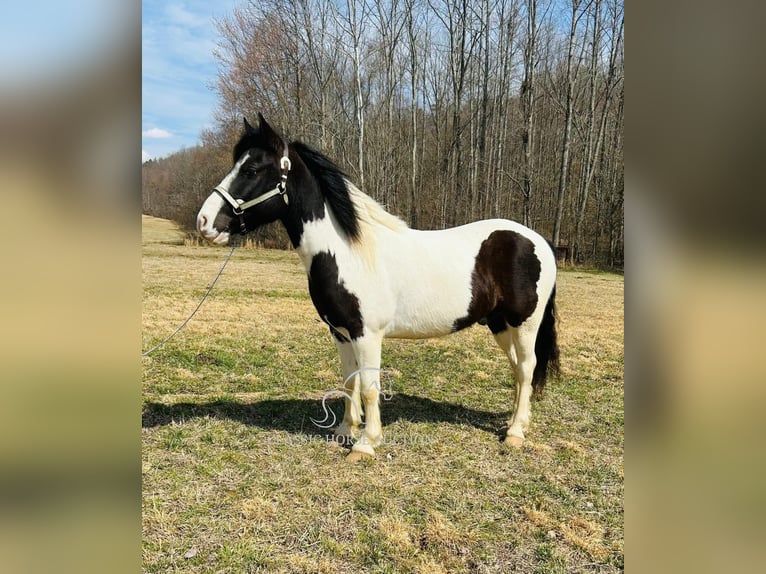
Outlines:
MULTIPOLYGON (((148 349, 228 249, 143 229, 148 349)), ((622 571, 623 292, 619 275, 560 272, 562 378, 521 450, 500 443, 513 379, 486 328, 386 341, 385 442, 349 465, 310 420, 342 380, 298 257, 235 251, 143 359, 144 571, 622 571)))

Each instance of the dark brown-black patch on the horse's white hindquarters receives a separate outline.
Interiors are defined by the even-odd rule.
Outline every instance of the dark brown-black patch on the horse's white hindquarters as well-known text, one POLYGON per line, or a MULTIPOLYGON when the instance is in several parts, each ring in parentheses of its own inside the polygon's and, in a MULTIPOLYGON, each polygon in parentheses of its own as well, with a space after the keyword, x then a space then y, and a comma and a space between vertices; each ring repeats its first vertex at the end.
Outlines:
POLYGON ((497 334, 506 324, 519 327, 537 307, 540 260, 535 245, 515 231, 493 231, 476 255, 471 276, 471 303, 453 332, 486 320, 497 334))

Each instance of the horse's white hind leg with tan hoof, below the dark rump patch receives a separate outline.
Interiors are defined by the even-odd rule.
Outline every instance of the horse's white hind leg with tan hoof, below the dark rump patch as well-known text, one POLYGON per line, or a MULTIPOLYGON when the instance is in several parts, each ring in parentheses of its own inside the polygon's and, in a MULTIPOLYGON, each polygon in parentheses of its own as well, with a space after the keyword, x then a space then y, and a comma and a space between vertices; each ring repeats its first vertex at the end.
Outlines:
POLYGON ((537 329, 522 326, 510 329, 511 341, 516 351, 516 408, 508 425, 505 442, 511 446, 524 444, 524 431, 529 427, 532 375, 537 364, 535 339, 537 329))

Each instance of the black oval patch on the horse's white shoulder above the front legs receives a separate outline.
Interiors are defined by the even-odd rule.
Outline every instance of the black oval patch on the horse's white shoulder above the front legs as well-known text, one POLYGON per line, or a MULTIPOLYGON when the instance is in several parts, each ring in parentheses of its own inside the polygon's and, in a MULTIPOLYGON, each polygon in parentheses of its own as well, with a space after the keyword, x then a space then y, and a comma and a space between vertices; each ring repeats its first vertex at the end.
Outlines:
POLYGON ((346 289, 338 275, 335 256, 327 251, 314 255, 309 270, 309 293, 321 319, 339 341, 345 337, 334 329, 346 329, 351 340, 364 334, 359 299, 346 289))

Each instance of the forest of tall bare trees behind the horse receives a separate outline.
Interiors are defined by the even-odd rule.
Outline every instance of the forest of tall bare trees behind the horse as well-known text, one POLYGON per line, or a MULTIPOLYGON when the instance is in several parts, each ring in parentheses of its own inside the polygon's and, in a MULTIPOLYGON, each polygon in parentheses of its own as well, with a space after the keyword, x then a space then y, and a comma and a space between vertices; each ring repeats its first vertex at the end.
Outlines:
POLYGON ((622 0, 258 0, 217 27, 215 126, 142 165, 143 213, 193 229, 261 112, 411 227, 509 218, 623 266, 622 0))

